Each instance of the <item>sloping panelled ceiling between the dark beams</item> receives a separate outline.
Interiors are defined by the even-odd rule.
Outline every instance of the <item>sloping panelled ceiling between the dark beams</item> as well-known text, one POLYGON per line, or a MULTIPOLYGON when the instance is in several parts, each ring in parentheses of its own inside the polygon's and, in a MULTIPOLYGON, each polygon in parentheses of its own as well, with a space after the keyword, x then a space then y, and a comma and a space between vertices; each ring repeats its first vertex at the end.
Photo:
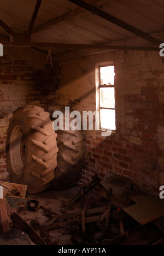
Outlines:
MULTIPOLYGON (((84 0, 145 33, 164 30, 163 0, 84 0)), ((28 31, 37 0, 0 0, 0 17, 14 32, 28 31)), ((78 2, 78 1, 77 1, 78 2)), ((0 27, 1 40, 10 34, 0 27), (4 36, 4 37, 3 37, 4 36)), ((32 42, 61 44, 108 44, 134 37, 112 22, 68 0, 42 0, 32 32, 32 42), (48 26, 48 21, 52 26, 48 26), (40 25, 46 28, 40 30, 40 25), (54 24, 54 25, 53 25, 54 24)), ((162 33, 159 34, 162 36, 162 33)), ((145 41, 146 43, 146 41, 145 41)), ((46 48, 40 48, 47 50, 46 48)), ((55 48, 54 54, 70 49, 55 48)))

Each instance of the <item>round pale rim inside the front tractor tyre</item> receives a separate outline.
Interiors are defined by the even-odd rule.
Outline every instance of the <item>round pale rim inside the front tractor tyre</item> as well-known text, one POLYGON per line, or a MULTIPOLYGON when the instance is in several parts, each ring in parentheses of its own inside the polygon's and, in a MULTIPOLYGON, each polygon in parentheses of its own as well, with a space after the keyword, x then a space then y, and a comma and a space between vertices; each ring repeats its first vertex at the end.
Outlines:
POLYGON ((24 170, 26 160, 26 139, 24 132, 16 126, 10 137, 10 162, 15 174, 19 175, 24 170))

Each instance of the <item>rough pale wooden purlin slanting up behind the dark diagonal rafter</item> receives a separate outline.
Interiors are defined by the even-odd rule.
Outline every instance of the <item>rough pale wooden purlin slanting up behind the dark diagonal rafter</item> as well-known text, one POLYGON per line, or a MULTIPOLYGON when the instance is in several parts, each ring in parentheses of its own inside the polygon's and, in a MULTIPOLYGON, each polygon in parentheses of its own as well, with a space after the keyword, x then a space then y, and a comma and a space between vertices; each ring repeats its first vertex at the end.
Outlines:
MULTIPOLYGON (((92 0, 92 3, 97 4, 97 5, 104 5, 104 4, 107 4, 107 2, 108 2, 107 0, 104 0, 104 1, 92 0)), ((31 33, 32 34, 38 33, 42 30, 46 30, 46 29, 48 29, 52 26, 55 26, 57 24, 60 24, 62 22, 69 21, 69 20, 73 19, 74 17, 76 17, 78 15, 85 14, 85 13, 86 13, 86 10, 77 7, 73 10, 67 11, 67 13, 62 14, 61 16, 58 16, 57 18, 51 19, 51 20, 46 21, 46 22, 44 22, 43 24, 41 24, 37 27, 34 27, 31 33)))

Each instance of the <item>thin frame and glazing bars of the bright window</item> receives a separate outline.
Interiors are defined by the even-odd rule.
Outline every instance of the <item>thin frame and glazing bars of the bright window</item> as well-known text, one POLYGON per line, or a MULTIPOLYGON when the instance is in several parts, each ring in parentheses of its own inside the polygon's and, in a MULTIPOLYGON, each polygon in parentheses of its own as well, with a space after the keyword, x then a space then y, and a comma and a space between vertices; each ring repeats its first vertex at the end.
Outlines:
MULTIPOLYGON (((110 84, 110 85, 101 85, 101 68, 102 67, 114 67, 114 63, 107 63, 107 64, 104 64, 104 65, 100 65, 100 63, 99 63, 99 65, 97 66, 98 67, 98 111, 99 111, 99 124, 100 124, 100 130, 107 130, 107 129, 105 129, 105 128, 103 128, 102 126, 101 126, 101 109, 109 109, 109 110, 115 110, 115 108, 105 108, 105 107, 101 107, 101 101, 100 101, 100 89, 101 88, 114 88, 115 89, 115 84, 110 84)), ((115 98, 114 98, 114 100, 115 100, 115 98)), ((96 100, 97 101, 97 100, 96 100)), ((97 104, 97 102, 96 102, 96 104, 97 104)), ((116 121, 116 120, 115 120, 116 121)), ((108 129, 110 129, 110 128, 108 128, 108 129)), ((115 130, 112 130, 112 132, 115 132, 116 131, 116 129, 115 130)))

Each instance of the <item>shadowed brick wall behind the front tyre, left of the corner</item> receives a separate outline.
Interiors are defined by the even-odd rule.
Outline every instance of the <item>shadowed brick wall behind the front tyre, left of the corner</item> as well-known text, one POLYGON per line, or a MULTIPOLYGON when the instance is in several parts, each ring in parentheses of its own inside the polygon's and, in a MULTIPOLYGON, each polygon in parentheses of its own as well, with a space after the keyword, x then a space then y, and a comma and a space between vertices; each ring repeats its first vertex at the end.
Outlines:
POLYGON ((12 112, 26 104, 45 109, 54 104, 60 67, 46 63, 46 54, 29 48, 4 48, 0 57, 0 179, 8 178, 5 139, 12 112))

